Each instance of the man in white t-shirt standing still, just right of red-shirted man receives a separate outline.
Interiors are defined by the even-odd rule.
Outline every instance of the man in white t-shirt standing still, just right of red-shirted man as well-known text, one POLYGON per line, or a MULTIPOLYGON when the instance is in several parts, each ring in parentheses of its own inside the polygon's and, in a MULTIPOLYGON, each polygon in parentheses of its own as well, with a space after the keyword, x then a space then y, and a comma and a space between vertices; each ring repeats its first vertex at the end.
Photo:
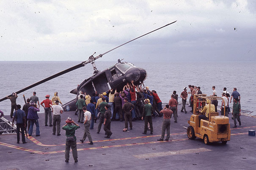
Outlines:
POLYGON ((52 135, 56 133, 56 124, 57 124, 57 136, 61 135, 61 114, 63 113, 63 108, 59 105, 59 100, 55 100, 56 105, 52 106, 53 112, 53 122, 52 122, 52 135))

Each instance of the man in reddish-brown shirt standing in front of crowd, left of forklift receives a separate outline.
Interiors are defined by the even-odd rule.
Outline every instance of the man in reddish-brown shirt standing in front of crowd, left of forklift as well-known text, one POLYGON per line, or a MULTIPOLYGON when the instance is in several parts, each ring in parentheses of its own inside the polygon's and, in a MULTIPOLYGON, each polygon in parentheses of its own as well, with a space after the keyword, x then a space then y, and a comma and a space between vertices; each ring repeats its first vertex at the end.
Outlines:
POLYGON ((170 125, 171 125, 171 115, 173 111, 169 108, 169 105, 165 105, 165 108, 160 111, 164 115, 164 119, 162 121, 162 135, 160 139, 157 139, 158 141, 163 141, 165 137, 165 130, 166 130, 166 141, 170 138, 170 125))

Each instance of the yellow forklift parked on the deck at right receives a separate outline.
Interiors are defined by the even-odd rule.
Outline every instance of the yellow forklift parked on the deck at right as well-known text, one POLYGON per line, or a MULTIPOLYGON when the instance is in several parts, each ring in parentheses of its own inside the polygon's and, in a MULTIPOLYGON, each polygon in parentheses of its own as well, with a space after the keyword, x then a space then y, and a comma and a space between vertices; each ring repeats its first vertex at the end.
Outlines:
MULTIPOLYGON (((230 140, 230 124, 229 119, 225 116, 225 101, 222 97, 206 96, 206 94, 194 94, 193 98, 193 114, 188 121, 187 137, 195 139, 196 137, 204 140, 208 145, 210 142, 219 142, 226 144, 230 140), (224 102, 224 115, 219 116, 217 111, 209 111, 208 120, 201 119, 199 125, 199 115, 209 100, 209 106, 213 105, 212 100, 221 100, 224 102)), ((209 107, 211 109, 211 107, 209 107)), ((215 110, 215 109, 214 109, 215 110)))

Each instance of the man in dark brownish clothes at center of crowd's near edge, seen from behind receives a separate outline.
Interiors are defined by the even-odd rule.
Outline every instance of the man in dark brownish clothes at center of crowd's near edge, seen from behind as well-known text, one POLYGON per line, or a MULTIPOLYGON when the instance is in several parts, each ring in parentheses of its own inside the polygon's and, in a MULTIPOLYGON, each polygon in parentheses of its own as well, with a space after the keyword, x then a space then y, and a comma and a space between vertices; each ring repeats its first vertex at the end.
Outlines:
POLYGON ((130 129, 132 130, 132 110, 134 109, 134 105, 132 103, 128 102, 128 98, 124 97, 124 105, 122 107, 122 110, 124 111, 124 128, 128 128, 128 121, 130 124, 130 129))

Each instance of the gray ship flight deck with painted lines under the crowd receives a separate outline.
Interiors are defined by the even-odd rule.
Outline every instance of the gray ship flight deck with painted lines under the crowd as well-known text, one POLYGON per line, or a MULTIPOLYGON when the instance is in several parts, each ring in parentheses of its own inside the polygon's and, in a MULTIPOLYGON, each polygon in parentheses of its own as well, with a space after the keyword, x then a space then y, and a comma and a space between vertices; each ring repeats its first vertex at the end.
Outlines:
MULTIPOLYGON (((187 111, 191 110, 188 106, 186 108, 187 111)), ((122 132, 124 122, 113 121, 111 123, 113 135, 108 141, 100 141, 106 140, 106 138, 104 138, 105 132, 103 126, 101 132, 99 134, 96 133, 98 126, 97 121, 97 123, 94 124, 94 129, 91 130, 91 136, 95 141, 94 145, 88 145, 88 139, 85 140, 85 143, 80 143, 79 139, 82 138, 84 131, 84 127, 81 126, 81 128, 76 131, 76 136, 77 148, 83 150, 78 151, 77 163, 74 163, 72 152, 70 152, 69 163, 64 162, 63 151, 65 150, 65 145, 40 146, 28 139, 26 140, 29 143, 22 144, 20 141, 21 143, 17 144, 16 135, 1 135, 0 169, 255 169, 256 137, 249 136, 248 130, 256 130, 256 119, 241 116, 242 126, 238 126, 238 128, 232 128, 234 123, 233 120, 230 119, 231 140, 228 141, 226 145, 222 143, 205 145, 201 139, 196 138, 195 140, 189 140, 187 138, 186 129, 183 127, 188 127, 187 120, 189 120, 191 112, 184 114, 180 112, 180 109, 181 106, 179 105, 178 123, 174 123, 173 117, 171 118, 172 135, 168 142, 157 141, 161 134, 162 117, 153 118, 153 135, 150 135, 149 131, 147 135, 142 134, 144 121, 133 121, 133 130, 129 130, 129 132, 122 132), (128 139, 121 140, 121 138, 128 139), (123 144, 125 145, 120 146, 123 144), (86 148, 90 147, 94 149, 86 150, 86 148), (23 148, 31 150, 24 151, 23 148), (33 153, 37 151, 43 153, 33 153), (61 153, 48 153, 52 151, 59 151, 61 153)), ((65 112, 61 115, 61 126, 65 124, 65 120, 68 116, 72 117, 77 122, 77 116, 74 115, 74 112, 65 112)), ((64 144, 66 140, 65 131, 61 130, 61 136, 52 135, 52 127, 44 126, 44 114, 39 114, 39 117, 41 136, 36 137, 34 126, 33 138, 43 145, 64 144)), ((229 114, 229 117, 231 118, 231 114, 229 114)))

